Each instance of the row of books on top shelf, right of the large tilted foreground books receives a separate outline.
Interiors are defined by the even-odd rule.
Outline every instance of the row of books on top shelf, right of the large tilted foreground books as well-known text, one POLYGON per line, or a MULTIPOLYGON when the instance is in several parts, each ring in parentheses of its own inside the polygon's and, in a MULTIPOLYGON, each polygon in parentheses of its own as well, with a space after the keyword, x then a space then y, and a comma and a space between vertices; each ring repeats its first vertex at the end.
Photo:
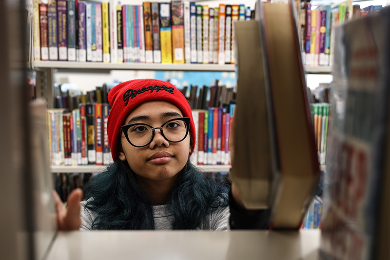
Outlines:
POLYGON ((382 9, 381 5, 361 9, 359 5, 339 3, 312 9, 310 2, 302 2, 300 9, 300 38, 303 60, 307 66, 332 66, 336 26, 352 17, 367 15, 382 9))

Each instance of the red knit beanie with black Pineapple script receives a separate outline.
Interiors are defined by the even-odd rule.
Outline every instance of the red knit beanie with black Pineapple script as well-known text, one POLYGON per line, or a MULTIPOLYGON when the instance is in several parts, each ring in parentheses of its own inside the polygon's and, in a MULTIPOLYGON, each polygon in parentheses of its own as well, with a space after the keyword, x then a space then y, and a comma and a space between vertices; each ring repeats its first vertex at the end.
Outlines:
POLYGON ((168 101, 176 105, 183 117, 189 117, 190 135, 193 140, 192 150, 195 148, 195 124, 192 118, 191 107, 184 95, 171 83, 163 80, 129 80, 113 87, 108 93, 111 111, 108 116, 107 134, 113 160, 118 158, 118 142, 120 129, 127 116, 138 105, 147 101, 168 101))

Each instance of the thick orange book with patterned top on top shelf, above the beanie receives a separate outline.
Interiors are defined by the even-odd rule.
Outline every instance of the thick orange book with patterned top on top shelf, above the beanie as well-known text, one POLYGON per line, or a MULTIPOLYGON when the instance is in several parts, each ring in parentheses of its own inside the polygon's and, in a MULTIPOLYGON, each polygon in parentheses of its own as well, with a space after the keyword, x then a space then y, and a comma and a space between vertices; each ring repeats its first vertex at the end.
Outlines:
POLYGON ((184 3, 171 1, 173 63, 184 63, 184 3))

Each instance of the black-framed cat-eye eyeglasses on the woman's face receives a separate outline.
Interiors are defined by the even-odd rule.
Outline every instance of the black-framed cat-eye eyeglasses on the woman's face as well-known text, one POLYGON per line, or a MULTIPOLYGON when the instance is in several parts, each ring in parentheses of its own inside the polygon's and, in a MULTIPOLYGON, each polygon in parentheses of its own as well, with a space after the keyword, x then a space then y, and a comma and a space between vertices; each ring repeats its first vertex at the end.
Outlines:
POLYGON ((145 123, 134 123, 122 126, 126 140, 135 147, 149 145, 155 137, 155 130, 160 129, 161 135, 169 142, 181 142, 188 135, 190 118, 175 118, 166 121, 160 127, 145 123))

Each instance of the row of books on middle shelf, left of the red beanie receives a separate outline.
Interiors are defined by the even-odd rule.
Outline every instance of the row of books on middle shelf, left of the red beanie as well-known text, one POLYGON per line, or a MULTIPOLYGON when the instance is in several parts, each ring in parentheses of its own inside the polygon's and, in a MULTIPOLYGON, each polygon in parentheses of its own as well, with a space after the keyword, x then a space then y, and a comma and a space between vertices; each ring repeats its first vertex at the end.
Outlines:
POLYGON ((52 165, 110 164, 107 136, 110 105, 80 104, 71 112, 48 109, 47 134, 52 165))

